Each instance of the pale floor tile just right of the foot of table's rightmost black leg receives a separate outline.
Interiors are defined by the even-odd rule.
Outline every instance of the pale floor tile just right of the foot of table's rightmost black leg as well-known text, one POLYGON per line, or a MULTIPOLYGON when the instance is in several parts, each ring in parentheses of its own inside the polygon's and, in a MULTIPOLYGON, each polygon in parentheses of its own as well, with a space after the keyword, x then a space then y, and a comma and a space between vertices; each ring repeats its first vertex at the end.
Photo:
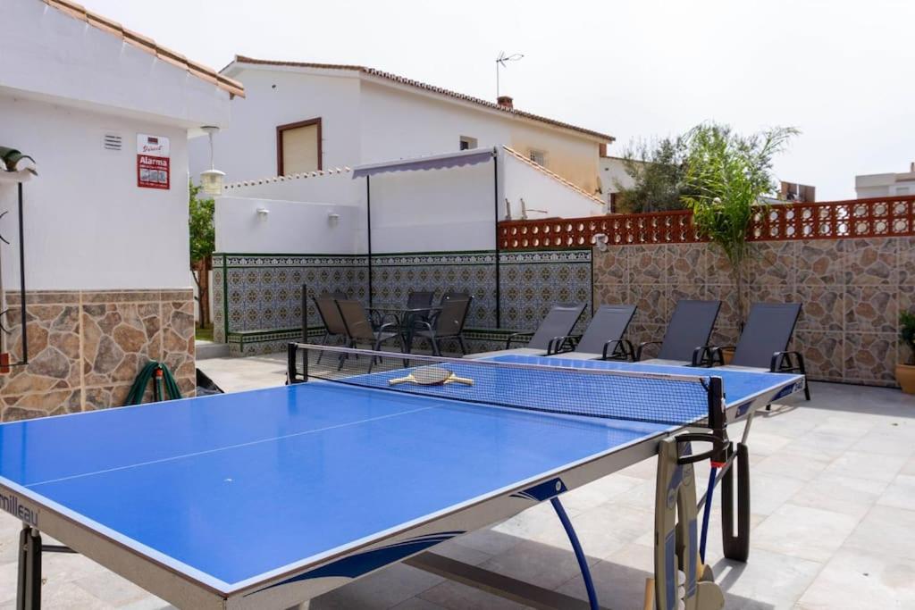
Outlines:
POLYGON ((826 562, 857 523, 832 510, 785 504, 753 530, 753 543, 765 551, 826 562))

